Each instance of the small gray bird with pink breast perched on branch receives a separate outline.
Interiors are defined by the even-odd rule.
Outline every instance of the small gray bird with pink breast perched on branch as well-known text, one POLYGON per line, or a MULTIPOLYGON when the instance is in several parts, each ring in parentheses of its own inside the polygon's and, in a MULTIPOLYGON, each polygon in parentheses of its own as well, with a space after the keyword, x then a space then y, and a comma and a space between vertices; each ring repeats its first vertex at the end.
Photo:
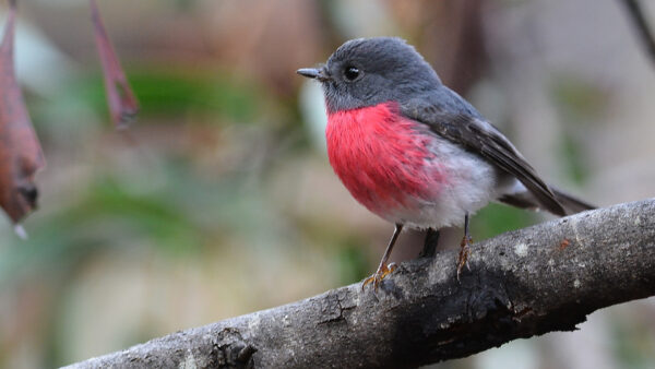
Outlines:
POLYGON ((297 73, 320 83, 327 157, 350 194, 395 225, 380 265, 366 278, 377 290, 405 228, 464 226, 457 279, 473 242, 469 216, 489 202, 558 216, 594 209, 547 184, 501 131, 445 86, 398 37, 344 43, 317 68, 297 73))

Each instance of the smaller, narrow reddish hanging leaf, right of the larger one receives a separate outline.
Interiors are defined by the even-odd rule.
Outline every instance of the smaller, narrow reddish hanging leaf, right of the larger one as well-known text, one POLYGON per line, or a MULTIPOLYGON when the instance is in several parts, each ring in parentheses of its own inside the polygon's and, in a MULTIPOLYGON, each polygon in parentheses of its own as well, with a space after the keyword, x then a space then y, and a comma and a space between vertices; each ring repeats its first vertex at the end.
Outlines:
POLYGON ((105 75, 105 90, 107 91, 109 114, 116 128, 123 129, 134 119, 134 116, 139 111, 139 103, 132 93, 126 73, 109 41, 107 31, 105 31, 105 25, 100 19, 98 5, 95 0, 90 0, 90 4, 96 46, 100 63, 103 64, 103 74, 105 75))

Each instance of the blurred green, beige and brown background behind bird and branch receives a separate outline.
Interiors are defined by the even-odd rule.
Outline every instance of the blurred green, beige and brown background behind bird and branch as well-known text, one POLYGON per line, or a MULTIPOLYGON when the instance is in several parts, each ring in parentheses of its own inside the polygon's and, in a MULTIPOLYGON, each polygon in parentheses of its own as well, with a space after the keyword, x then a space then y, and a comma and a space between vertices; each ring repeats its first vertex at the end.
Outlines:
MULTIPOLYGON (((619 0, 99 7, 142 105, 127 132, 109 122, 87 1, 20 1, 19 76, 48 166, 29 239, 0 222, 2 368, 71 364, 372 273, 392 226, 333 175, 320 90, 295 73, 349 38, 408 39, 560 188, 598 205, 655 195, 655 64, 619 0)), ((490 205, 473 235, 546 218, 490 205)), ((422 237, 404 234, 393 259, 422 237)), ((655 367, 655 299, 580 328, 434 367, 655 367)))

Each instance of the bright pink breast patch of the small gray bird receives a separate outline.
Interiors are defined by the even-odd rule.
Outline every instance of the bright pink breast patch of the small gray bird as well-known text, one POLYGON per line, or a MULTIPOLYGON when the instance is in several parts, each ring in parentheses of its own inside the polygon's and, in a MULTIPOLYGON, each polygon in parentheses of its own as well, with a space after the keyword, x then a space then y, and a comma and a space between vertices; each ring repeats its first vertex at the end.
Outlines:
POLYGON ((329 115, 330 164, 353 197, 386 217, 437 198, 439 164, 426 127, 400 116, 397 104, 329 115))

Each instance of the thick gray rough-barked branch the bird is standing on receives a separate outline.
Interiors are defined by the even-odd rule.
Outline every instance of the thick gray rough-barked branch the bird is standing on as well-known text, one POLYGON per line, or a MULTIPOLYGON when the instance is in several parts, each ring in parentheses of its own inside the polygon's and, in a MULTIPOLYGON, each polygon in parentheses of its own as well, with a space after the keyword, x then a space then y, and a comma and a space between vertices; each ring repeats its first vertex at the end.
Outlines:
POLYGON ((359 283, 174 333, 72 368, 402 368, 572 331, 594 310, 655 295, 655 199, 507 233, 359 283))

